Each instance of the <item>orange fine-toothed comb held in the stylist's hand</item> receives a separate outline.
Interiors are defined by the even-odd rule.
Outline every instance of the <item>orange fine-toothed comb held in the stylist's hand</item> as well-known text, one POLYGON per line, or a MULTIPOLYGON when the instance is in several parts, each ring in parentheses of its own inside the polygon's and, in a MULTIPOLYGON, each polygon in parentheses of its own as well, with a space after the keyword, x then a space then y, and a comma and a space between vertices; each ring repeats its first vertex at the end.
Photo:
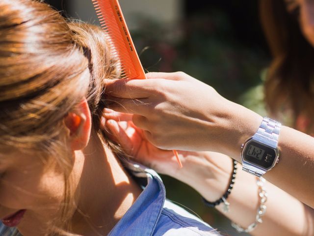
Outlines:
MULTIPOLYGON (((121 78, 146 79, 118 0, 92 0, 92 2, 101 26, 109 36, 111 52, 120 60, 121 78)), ((173 150, 173 153, 182 168, 177 150, 173 150)))

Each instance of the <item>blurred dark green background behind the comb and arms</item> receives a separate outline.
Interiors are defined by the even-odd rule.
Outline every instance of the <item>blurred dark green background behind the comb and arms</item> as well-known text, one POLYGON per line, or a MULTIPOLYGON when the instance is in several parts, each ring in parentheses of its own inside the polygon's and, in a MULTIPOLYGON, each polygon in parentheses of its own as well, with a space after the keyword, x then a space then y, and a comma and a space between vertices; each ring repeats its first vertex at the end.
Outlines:
MULTIPOLYGON (((89 0, 48 2, 65 16, 98 24, 89 0)), ((259 21, 258 0, 120 3, 146 71, 184 71, 226 98, 265 115, 262 75, 270 56, 259 21)), ((240 235, 228 219, 205 207, 192 188, 171 177, 162 179, 170 200, 196 212, 222 234, 240 235)))

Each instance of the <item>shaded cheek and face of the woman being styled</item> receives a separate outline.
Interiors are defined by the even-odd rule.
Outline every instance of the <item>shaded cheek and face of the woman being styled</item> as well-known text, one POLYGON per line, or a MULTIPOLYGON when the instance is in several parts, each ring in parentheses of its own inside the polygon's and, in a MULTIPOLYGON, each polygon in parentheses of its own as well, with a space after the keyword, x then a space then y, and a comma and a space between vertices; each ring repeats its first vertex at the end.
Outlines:
MULTIPOLYGON (((63 200, 63 175, 56 165, 48 170, 37 153, 14 152, 6 156, 11 161, 3 167, 0 187, 0 218, 20 209, 27 209, 18 226, 25 235, 45 229, 63 200), (29 227, 33 225, 34 227, 29 227), (38 227, 37 227, 38 226, 38 227)), ((83 163, 79 169, 82 169, 83 163)), ((77 184, 77 183, 76 183, 77 184)))

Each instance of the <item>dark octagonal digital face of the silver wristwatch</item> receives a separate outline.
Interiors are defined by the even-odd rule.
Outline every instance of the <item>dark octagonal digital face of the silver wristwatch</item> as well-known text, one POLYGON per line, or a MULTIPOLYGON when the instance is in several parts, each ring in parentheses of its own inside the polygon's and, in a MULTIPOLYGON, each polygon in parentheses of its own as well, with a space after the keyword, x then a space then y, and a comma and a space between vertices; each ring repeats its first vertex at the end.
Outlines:
POLYGON ((277 152, 274 148, 267 147, 254 140, 249 141, 245 145, 242 153, 244 160, 264 169, 271 168, 277 157, 277 152))

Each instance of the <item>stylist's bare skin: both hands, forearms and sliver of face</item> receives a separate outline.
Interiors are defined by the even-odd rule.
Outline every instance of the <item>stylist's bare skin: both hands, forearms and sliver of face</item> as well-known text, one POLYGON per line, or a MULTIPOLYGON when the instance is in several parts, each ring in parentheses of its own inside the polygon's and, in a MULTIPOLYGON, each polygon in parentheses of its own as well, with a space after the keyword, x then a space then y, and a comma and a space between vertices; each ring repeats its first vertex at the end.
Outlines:
MULTIPOLYGON (((286 4, 287 11, 299 21, 303 36, 314 47, 314 0, 287 0, 286 4)), ((115 111, 106 110, 107 120, 103 122, 139 162, 183 181, 208 201, 219 199, 232 171, 227 155, 241 162, 241 144, 254 135, 262 117, 217 96, 208 85, 182 72, 152 72, 147 77, 148 80, 107 83, 107 94, 116 103, 109 104, 115 111), (180 170, 172 148, 180 150, 180 170)), ((268 180, 268 200, 263 223, 250 234, 312 236, 314 189, 309 186, 314 181, 314 139, 283 126, 278 147, 279 163, 264 175, 268 180)), ((228 201, 230 212, 223 212, 222 204, 216 208, 243 228, 253 223, 259 205, 256 177, 238 171, 228 201)))

